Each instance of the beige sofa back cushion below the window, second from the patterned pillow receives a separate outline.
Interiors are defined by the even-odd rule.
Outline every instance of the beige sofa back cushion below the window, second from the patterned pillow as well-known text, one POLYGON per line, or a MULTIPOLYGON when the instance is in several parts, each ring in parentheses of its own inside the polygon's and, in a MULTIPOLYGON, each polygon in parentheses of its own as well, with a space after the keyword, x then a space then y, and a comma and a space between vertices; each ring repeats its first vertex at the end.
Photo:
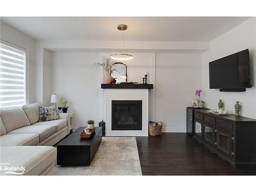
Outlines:
POLYGON ((1 108, 0 116, 7 133, 20 127, 30 125, 27 115, 20 106, 1 108))

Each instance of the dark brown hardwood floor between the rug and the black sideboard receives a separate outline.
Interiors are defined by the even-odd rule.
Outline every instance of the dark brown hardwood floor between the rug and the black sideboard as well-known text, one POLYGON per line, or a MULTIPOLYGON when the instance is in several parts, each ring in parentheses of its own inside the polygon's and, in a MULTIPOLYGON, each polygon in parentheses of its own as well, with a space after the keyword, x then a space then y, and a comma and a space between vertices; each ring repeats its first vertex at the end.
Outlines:
POLYGON ((142 175, 256 175, 256 167, 232 168, 186 133, 136 137, 142 175))

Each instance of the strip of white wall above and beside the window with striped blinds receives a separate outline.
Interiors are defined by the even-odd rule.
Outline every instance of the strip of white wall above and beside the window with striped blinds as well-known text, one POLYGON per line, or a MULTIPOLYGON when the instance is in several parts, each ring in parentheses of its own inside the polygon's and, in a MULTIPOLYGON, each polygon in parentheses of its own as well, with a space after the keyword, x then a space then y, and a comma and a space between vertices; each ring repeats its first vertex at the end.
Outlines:
POLYGON ((28 52, 28 68, 29 68, 29 75, 28 75, 28 88, 29 88, 29 103, 35 102, 35 43, 36 40, 32 37, 18 31, 17 29, 7 25, 6 23, 0 23, 0 37, 2 40, 10 42, 16 46, 22 47, 27 50, 28 52))

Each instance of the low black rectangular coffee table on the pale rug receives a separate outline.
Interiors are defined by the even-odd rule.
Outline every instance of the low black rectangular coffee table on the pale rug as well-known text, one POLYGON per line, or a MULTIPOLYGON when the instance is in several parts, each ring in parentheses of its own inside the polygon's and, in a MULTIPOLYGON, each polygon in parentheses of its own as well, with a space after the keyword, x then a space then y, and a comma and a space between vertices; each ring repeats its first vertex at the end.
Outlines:
POLYGON ((89 139, 80 138, 79 134, 83 129, 84 127, 79 127, 57 144, 58 165, 91 164, 102 139, 102 127, 96 127, 95 133, 89 139))

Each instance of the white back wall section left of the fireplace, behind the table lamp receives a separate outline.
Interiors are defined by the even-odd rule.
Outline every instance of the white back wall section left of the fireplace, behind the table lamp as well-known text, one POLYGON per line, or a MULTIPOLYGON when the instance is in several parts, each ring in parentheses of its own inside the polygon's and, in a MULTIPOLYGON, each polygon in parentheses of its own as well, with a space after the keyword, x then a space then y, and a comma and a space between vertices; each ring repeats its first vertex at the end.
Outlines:
MULTIPOLYGON (((68 112, 74 112, 74 126, 85 126, 88 119, 99 117, 99 69, 94 63, 99 53, 52 52, 52 93, 67 99, 68 112)), ((57 103, 61 106, 61 103, 57 103)))

